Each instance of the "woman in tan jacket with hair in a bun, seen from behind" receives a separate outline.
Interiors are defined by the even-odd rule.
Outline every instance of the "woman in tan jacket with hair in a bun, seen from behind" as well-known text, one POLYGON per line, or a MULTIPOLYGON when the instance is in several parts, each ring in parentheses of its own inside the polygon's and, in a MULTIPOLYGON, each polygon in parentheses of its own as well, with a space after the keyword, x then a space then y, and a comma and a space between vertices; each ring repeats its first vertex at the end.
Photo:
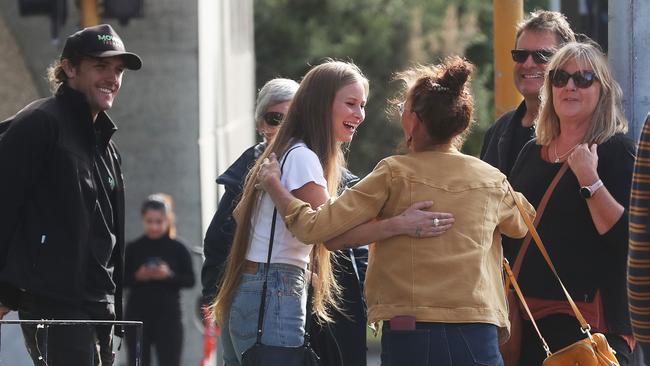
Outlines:
MULTIPOLYGON (((289 230, 304 243, 325 242, 330 250, 359 242, 360 230, 352 228, 395 216, 417 201, 453 214, 455 223, 442 236, 394 236, 371 249, 368 319, 384 321, 382 365, 503 363, 498 343, 509 324, 501 234, 523 237, 527 229, 506 177, 458 151, 472 122, 472 69, 456 57, 400 73, 408 87, 398 106, 410 152, 382 160, 316 211, 282 187, 273 156, 258 173, 289 230)), ((534 209, 517 195, 532 218, 534 209)), ((433 219, 433 226, 447 224, 433 219)))

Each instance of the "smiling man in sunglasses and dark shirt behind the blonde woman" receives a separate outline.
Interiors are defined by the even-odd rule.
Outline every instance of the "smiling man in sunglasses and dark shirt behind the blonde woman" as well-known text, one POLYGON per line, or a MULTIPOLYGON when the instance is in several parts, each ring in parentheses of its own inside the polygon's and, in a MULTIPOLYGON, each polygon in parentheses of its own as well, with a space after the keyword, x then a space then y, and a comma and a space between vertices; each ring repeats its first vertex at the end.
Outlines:
POLYGON ((558 48, 571 41, 575 41, 575 35, 564 15, 558 12, 535 11, 517 26, 513 74, 515 87, 524 100, 487 130, 481 148, 481 160, 506 176, 521 148, 535 135, 534 121, 546 63, 558 48))

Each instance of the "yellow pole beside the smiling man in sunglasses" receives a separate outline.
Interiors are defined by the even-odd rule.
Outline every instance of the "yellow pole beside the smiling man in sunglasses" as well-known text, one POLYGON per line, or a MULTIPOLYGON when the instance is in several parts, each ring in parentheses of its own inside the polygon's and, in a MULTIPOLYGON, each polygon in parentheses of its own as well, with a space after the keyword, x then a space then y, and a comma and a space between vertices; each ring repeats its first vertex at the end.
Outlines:
POLYGON ((515 46, 515 27, 524 18, 523 0, 492 0, 494 24, 494 111, 497 116, 515 108, 521 95, 512 76, 510 50, 515 46))

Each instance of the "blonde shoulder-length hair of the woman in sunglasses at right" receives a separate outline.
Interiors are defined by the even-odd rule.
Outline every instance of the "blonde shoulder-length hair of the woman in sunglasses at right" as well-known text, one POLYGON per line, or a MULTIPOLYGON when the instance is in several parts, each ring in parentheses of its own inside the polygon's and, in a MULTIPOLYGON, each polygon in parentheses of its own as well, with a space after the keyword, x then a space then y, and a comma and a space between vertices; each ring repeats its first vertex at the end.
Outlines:
POLYGON ((589 130, 582 143, 600 144, 617 133, 627 132, 627 119, 623 113, 623 92, 614 80, 607 60, 600 48, 592 42, 570 42, 555 53, 546 67, 544 86, 540 92, 541 104, 537 116, 536 137, 539 145, 548 145, 560 135, 560 118, 553 105, 553 85, 550 71, 560 69, 575 60, 581 67, 590 67, 600 83, 600 96, 591 116, 589 130))

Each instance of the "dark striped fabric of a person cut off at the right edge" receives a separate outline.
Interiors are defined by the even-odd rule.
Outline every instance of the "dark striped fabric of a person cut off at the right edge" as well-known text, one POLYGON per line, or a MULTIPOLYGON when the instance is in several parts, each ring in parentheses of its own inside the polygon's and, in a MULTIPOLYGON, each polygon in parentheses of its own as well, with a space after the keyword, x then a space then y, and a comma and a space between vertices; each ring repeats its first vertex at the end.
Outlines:
POLYGON ((630 195, 628 295, 634 338, 650 354, 650 113, 637 150, 630 195))

